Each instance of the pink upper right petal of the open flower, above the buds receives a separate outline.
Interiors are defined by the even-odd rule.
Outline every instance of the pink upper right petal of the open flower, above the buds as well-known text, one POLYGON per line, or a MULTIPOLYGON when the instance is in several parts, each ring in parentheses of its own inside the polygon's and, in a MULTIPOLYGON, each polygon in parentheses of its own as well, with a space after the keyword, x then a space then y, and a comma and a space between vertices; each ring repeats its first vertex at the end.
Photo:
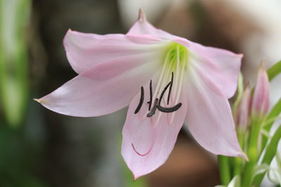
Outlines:
POLYGON ((243 55, 228 50, 202 46, 186 39, 174 39, 190 50, 190 63, 201 69, 206 83, 211 81, 226 98, 235 94, 243 55))

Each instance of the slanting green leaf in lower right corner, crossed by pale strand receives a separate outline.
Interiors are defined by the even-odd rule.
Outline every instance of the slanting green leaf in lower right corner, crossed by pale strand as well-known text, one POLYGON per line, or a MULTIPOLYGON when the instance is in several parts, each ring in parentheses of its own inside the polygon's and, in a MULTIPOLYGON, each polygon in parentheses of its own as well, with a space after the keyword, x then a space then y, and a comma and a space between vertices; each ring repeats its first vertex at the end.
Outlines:
MULTIPOLYGON (((273 134, 273 137, 266 148, 266 153, 263 156, 263 160, 261 161, 262 163, 266 163, 270 165, 270 162, 273 160, 274 155, 276 154, 277 145, 280 139, 281 139, 281 125, 279 125, 279 127, 275 131, 275 134, 273 134)), ((253 182, 254 186, 260 186, 261 181, 263 180, 265 174, 266 173, 259 174, 258 176, 256 176, 253 182)))

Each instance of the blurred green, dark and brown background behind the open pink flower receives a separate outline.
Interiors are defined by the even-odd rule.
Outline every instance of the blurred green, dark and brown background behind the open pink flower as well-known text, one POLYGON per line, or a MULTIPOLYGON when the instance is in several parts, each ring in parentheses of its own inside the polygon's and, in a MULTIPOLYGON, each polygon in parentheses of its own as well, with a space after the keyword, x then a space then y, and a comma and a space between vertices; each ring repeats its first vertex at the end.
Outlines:
MULTIPOLYGON (((74 118, 34 102, 77 74, 67 62, 67 29, 122 33, 143 8, 160 29, 205 46, 244 53, 254 85, 262 59, 281 59, 281 1, 0 0, 1 187, 209 187, 219 184, 216 157, 182 130, 167 162, 133 182, 120 155, 126 109, 74 118)), ((281 96, 272 83, 272 103, 281 96)), ((264 183, 264 186, 273 186, 264 183)))

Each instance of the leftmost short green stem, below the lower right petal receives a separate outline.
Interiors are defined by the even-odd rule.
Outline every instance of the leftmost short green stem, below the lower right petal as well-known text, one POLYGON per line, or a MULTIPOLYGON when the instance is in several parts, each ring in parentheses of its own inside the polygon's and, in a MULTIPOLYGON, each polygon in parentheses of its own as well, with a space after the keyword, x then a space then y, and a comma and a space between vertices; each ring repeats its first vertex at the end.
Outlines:
POLYGON ((230 162, 229 158, 224 155, 218 155, 218 167, 220 170, 221 183, 228 186, 230 183, 230 162))

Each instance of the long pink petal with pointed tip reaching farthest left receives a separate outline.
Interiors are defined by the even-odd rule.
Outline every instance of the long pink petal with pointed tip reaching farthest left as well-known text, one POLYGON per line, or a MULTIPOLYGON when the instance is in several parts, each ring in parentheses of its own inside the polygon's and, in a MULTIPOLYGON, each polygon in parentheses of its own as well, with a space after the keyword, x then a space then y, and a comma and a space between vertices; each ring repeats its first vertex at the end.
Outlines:
POLYGON ((68 116, 101 116, 129 102, 141 85, 155 74, 159 62, 146 62, 142 55, 96 64, 51 94, 37 99, 46 108, 68 116))

